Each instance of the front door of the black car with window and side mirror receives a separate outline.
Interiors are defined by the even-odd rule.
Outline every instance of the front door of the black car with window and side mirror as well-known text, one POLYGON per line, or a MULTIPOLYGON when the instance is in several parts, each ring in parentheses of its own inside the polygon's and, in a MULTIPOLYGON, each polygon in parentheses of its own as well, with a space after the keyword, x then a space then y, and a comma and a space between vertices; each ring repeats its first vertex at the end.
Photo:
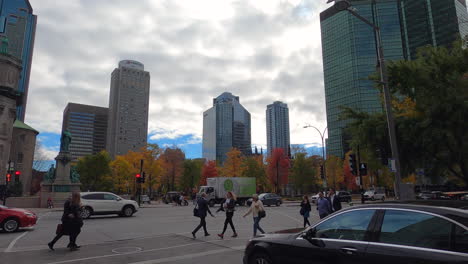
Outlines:
POLYGON ((292 263, 372 263, 366 258, 366 249, 375 213, 375 209, 356 209, 320 222, 311 227, 312 242, 298 236, 288 257, 292 263))

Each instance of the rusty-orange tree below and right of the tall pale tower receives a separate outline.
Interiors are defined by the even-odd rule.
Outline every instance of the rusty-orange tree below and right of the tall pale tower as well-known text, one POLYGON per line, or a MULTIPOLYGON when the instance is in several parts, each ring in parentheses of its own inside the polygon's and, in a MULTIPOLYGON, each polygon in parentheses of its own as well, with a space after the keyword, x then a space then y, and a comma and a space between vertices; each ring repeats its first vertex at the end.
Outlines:
POLYGON ((166 148, 162 154, 164 180, 169 190, 175 190, 183 172, 185 153, 178 147, 166 148))

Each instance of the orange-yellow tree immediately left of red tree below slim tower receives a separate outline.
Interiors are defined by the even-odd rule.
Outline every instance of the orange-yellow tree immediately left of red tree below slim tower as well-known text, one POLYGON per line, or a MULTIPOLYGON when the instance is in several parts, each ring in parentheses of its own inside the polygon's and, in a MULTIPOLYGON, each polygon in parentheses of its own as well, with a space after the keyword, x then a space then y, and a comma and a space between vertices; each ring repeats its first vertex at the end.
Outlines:
POLYGON ((255 178, 259 193, 270 189, 266 175, 266 166, 263 163, 263 155, 244 157, 242 167, 242 176, 255 178))

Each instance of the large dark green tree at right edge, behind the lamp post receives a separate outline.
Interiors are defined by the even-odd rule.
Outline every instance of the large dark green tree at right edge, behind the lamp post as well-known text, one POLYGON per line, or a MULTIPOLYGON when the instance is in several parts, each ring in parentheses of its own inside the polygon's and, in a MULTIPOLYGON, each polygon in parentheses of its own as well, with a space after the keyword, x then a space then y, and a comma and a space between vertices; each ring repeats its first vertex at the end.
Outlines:
MULTIPOLYGON (((427 175, 468 183, 468 49, 467 41, 451 49, 426 47, 412 61, 391 62, 389 86, 393 96, 402 175, 416 168, 427 175)), ((371 156, 390 156, 384 114, 346 109, 352 145, 371 156)))

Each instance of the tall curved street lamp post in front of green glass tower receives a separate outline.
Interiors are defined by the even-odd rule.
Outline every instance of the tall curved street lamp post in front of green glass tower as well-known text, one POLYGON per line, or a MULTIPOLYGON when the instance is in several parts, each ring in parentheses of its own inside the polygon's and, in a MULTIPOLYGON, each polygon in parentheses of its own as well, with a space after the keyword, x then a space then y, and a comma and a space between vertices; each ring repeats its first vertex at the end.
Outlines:
MULTIPOLYGON (((387 126, 388 126, 388 135, 390 140, 390 148, 392 150, 392 157, 395 160, 395 195, 398 199, 401 197, 400 185, 401 185, 401 171, 400 171, 400 157, 398 154, 398 144, 396 141, 396 131, 395 131, 395 119, 393 117, 392 105, 391 105, 391 95, 388 87, 388 76, 387 68, 385 65, 384 50, 382 46, 382 37, 380 32, 380 27, 373 24, 371 21, 367 20, 365 17, 359 15, 356 11, 351 8, 351 3, 348 0, 329 0, 330 2, 335 2, 334 7, 338 11, 348 11, 353 16, 359 18, 361 21, 372 27, 376 35, 377 42, 377 59, 379 61, 379 71, 380 71, 380 84, 383 88, 384 101, 385 101, 385 112, 387 117, 387 126)), ((373 0, 375 3, 375 0, 373 0)))

